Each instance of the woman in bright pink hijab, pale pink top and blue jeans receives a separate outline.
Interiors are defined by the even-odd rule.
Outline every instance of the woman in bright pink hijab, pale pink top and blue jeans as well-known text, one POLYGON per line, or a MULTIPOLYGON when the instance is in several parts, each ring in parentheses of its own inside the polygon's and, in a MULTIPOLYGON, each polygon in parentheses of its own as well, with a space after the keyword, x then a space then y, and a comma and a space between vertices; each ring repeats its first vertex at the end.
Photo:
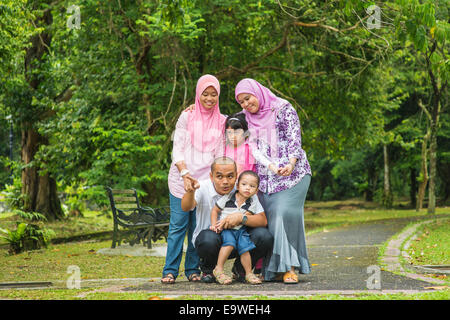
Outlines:
POLYGON ((189 281, 200 281, 199 258, 192 244, 196 226, 195 209, 181 209, 181 198, 192 188, 192 178, 209 179, 211 163, 221 155, 225 116, 219 109, 220 84, 206 74, 198 79, 195 109, 182 112, 175 127, 172 164, 168 183, 170 191, 170 227, 162 283, 174 283, 178 276, 183 242, 188 235, 185 275, 189 281))

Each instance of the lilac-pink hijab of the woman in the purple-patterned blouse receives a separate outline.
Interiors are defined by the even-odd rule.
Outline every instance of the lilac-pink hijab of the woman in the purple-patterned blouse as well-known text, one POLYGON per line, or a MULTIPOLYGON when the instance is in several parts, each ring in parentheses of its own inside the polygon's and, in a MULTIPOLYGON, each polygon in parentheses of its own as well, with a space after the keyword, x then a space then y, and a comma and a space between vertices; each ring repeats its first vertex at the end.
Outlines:
POLYGON ((258 81, 249 78, 239 81, 234 93, 238 103, 237 97, 241 93, 250 93, 258 99, 258 112, 251 113, 246 110, 243 111, 248 122, 249 131, 253 135, 253 138, 257 137, 265 140, 270 145, 272 156, 278 156, 275 121, 278 110, 286 105, 288 101, 277 97, 258 81))

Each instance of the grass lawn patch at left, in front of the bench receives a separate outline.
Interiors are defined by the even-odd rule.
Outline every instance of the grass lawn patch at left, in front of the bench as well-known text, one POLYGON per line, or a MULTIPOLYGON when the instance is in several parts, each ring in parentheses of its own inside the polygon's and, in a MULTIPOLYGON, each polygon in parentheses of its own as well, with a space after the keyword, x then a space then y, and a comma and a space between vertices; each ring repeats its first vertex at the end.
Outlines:
POLYGON ((148 278, 161 276, 164 257, 96 254, 111 241, 84 241, 50 245, 47 249, 9 256, 0 251, 0 282, 64 281, 67 268, 80 268, 81 279, 148 278))

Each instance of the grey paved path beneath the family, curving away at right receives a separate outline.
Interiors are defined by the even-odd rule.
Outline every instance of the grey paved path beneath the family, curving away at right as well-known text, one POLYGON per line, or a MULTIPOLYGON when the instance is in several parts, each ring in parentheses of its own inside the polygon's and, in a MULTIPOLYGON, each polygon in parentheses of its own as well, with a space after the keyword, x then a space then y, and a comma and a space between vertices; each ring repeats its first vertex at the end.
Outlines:
MULTIPOLYGON (((417 219, 395 219, 342 227, 328 232, 320 232, 307 237, 312 272, 300 275, 298 284, 285 285, 280 282, 265 282, 262 285, 249 285, 233 282, 231 285, 190 283, 179 277, 173 285, 163 285, 160 279, 151 279, 145 283, 121 287, 122 291, 148 291, 165 293, 170 296, 184 294, 217 296, 284 296, 317 293, 352 294, 356 292, 421 292, 427 287, 436 286, 431 278, 411 277, 394 274, 392 266, 398 261, 383 260, 386 266, 380 267, 378 252, 391 237, 399 233, 411 221, 417 219), (428 282, 423 281, 426 279, 428 282)), ((398 247, 389 247, 401 254, 398 247)), ((390 243, 391 245, 391 243, 390 243)), ((384 259, 384 258, 383 258, 384 259)), ((396 271, 402 272, 401 269, 396 271)))

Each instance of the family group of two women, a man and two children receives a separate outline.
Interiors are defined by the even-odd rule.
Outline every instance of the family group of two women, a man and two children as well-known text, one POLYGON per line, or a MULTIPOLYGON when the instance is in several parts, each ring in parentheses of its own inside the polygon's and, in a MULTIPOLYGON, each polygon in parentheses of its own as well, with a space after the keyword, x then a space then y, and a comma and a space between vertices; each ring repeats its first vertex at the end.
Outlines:
POLYGON ((178 277, 187 234, 189 281, 298 283, 311 272, 303 218, 311 168, 298 114, 254 79, 236 85, 237 113, 221 114, 219 96, 218 79, 203 75, 176 124, 161 282, 178 277))

